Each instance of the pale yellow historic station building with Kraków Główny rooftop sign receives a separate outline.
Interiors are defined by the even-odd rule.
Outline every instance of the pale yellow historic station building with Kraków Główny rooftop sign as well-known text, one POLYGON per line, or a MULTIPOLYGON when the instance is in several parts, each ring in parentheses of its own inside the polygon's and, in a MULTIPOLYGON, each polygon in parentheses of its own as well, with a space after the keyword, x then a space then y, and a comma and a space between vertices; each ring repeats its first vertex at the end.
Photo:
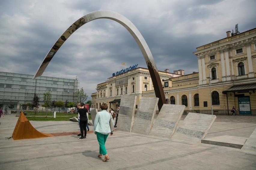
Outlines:
MULTIPOLYGON (((227 37, 198 47, 194 54, 198 72, 158 71, 168 104, 185 105, 184 114, 227 115, 235 106, 240 115, 256 115, 256 28, 239 34, 227 31, 227 37)), ((91 107, 107 103, 115 109, 121 95, 137 95, 136 106, 142 96, 155 97, 148 69, 117 72, 98 84, 91 107)))

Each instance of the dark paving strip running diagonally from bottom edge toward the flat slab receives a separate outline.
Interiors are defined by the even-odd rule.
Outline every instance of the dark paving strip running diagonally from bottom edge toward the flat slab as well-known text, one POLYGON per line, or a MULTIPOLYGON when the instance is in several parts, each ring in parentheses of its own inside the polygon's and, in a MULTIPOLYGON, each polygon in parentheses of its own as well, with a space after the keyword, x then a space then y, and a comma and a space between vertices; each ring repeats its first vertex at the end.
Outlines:
MULTIPOLYGON (((221 146, 213 146, 211 148, 206 148, 206 149, 202 149, 200 150, 201 152, 203 151, 208 151, 208 150, 212 150, 212 149, 215 149, 215 148, 219 148, 221 146)), ((190 152, 192 153, 192 152, 190 152)), ((192 155, 190 153, 187 153, 189 155, 192 155)), ((188 156, 188 155, 187 155, 188 156)), ((129 169, 136 169, 136 168, 141 168, 143 166, 150 166, 150 165, 154 165, 156 163, 161 163, 161 162, 165 162, 165 161, 169 161, 169 160, 174 160, 174 159, 177 159, 177 158, 181 158, 181 157, 186 157, 186 154, 180 154, 180 155, 176 155, 176 156, 173 156, 173 157, 169 157, 169 158, 164 158, 164 159, 160 159, 160 160, 155 160, 155 161, 152 161, 152 162, 147 162, 147 163, 142 163, 142 164, 139 164, 139 165, 134 165, 134 166, 130 166, 130 167, 124 167, 124 168, 119 168, 119 169, 116 169, 116 170, 129 170, 129 169)))

